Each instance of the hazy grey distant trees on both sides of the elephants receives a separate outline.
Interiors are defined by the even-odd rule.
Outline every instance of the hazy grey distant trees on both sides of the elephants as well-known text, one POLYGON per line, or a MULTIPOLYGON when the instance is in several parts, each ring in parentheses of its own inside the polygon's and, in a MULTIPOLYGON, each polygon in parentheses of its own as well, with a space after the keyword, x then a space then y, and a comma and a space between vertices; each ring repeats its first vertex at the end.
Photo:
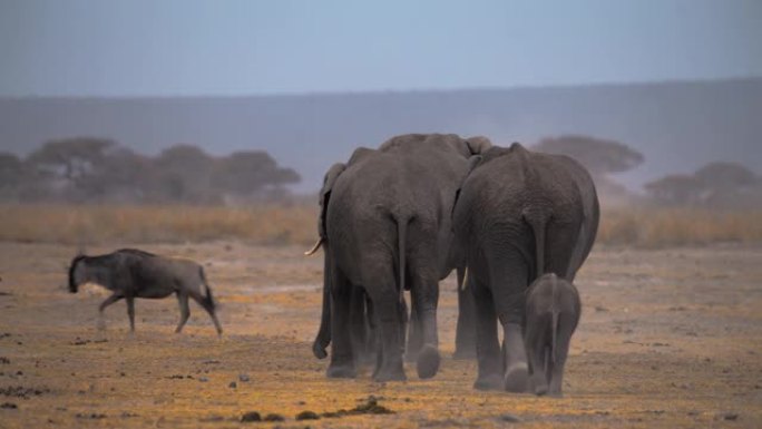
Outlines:
MULTIPOLYGON (((762 206, 762 177, 737 163, 715 162, 693 174, 673 174, 635 195, 616 174, 644 163, 627 145, 590 136, 541 139, 533 149, 568 155, 592 174, 604 204, 633 201, 658 205, 762 206)), ((45 143, 26 158, 0 152, 0 201, 235 204, 279 199, 301 181, 263 150, 213 156, 175 145, 156 156, 107 138, 76 137, 45 143)))

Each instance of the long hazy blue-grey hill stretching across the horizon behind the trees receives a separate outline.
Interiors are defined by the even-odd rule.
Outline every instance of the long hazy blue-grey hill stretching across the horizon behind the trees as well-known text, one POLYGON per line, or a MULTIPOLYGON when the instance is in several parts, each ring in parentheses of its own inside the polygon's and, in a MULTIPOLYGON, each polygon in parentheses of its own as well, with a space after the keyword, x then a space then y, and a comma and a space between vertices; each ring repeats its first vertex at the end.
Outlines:
POLYGON ((762 78, 455 91, 189 98, 0 98, 0 148, 26 155, 43 142, 110 137, 138 152, 188 143, 212 154, 265 149, 318 189, 355 146, 403 133, 486 135, 533 144, 583 134, 645 155, 622 182, 637 188, 711 160, 762 166, 762 78))

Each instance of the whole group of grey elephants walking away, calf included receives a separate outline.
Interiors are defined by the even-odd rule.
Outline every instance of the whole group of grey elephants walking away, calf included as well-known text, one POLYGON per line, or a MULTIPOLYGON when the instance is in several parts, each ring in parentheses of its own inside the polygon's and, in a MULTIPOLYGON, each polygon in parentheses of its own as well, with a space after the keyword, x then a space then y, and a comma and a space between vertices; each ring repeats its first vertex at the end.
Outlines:
POLYGON ((560 394, 579 318, 572 282, 598 218, 589 174, 566 156, 452 134, 360 147, 320 192, 313 352, 325 358, 330 344, 330 378, 374 363, 374 380, 404 380, 404 360, 418 377, 436 376, 439 281, 456 270, 456 357, 476 354, 475 388, 560 394))

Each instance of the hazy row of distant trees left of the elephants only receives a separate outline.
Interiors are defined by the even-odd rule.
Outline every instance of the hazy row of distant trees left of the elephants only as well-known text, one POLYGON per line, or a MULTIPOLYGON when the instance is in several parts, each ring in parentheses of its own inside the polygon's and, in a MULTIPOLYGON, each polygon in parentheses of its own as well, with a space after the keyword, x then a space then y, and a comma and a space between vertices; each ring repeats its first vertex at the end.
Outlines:
POLYGON ((45 143, 26 158, 0 153, 0 199, 221 204, 279 198, 300 175, 263 150, 213 156, 175 145, 156 156, 107 138, 45 143))

